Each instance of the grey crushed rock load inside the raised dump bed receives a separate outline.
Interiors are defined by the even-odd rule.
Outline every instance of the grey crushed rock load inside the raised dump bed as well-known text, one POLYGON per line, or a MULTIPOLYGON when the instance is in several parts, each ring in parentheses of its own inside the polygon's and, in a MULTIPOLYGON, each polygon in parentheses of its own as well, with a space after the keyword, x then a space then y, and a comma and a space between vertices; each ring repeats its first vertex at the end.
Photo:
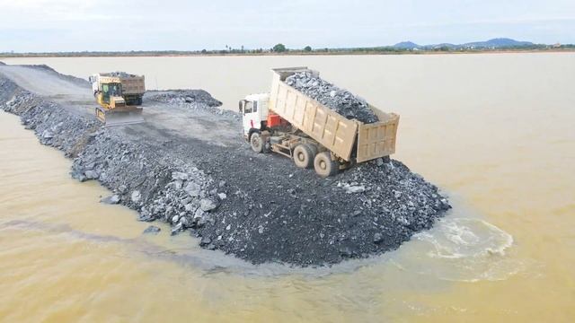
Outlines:
POLYGON ((324 81, 311 72, 299 72, 286 79, 289 86, 296 88, 326 107, 338 112, 345 118, 358 119, 363 123, 374 123, 379 120, 367 102, 353 93, 324 81))

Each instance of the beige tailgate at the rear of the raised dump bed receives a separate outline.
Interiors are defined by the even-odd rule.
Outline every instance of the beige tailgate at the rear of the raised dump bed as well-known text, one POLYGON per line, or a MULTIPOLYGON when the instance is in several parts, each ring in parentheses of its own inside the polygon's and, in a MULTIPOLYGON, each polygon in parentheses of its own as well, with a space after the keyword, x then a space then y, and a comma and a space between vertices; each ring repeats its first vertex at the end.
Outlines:
POLYGON ((398 124, 399 116, 390 113, 383 121, 359 126, 357 161, 366 162, 395 153, 398 124))

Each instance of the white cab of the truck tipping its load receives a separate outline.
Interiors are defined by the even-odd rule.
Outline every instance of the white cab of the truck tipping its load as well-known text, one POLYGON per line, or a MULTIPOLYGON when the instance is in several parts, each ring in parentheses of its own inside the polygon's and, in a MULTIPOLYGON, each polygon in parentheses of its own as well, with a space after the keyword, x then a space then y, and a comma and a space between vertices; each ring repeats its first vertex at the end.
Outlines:
POLYGON ((254 129, 260 130, 261 123, 268 118, 270 93, 250 94, 240 100, 240 113, 243 118, 243 138, 248 140, 254 129))

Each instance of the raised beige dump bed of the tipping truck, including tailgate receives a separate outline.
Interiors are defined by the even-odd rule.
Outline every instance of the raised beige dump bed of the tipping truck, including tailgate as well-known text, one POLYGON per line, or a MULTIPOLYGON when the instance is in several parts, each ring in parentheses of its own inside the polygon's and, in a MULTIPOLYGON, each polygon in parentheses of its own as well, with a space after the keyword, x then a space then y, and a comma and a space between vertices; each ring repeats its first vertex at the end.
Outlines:
MULTIPOLYGON (((395 152, 399 116, 369 106, 379 121, 364 124, 349 120, 285 83, 298 72, 313 72, 307 67, 274 69, 270 92, 270 109, 306 135, 323 144, 332 153, 349 162, 366 162, 395 152), (354 148, 357 147, 354 152, 354 148)), ((317 74, 316 72, 313 72, 317 74)))

